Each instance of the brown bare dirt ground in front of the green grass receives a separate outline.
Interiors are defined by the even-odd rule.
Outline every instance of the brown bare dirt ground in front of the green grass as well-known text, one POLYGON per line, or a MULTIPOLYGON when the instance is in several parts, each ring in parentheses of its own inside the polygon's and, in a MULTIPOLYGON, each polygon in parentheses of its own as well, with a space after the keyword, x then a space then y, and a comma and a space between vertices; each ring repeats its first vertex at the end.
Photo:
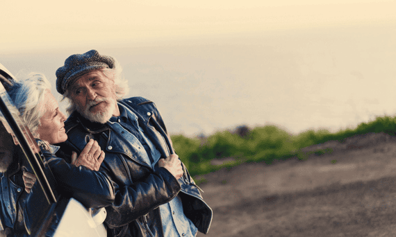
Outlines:
POLYGON ((396 236, 396 138, 316 148, 333 153, 202 175, 213 222, 197 236, 396 236))

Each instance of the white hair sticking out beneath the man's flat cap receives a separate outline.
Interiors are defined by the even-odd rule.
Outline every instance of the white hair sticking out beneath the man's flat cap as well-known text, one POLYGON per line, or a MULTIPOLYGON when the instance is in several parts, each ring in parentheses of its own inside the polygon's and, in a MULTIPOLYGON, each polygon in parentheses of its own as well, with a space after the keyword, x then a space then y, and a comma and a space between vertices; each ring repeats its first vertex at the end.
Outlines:
MULTIPOLYGON (((122 67, 119 65, 119 62, 115 58, 114 60, 115 60, 114 69, 103 68, 98 70, 104 73, 104 76, 106 76, 106 78, 113 80, 115 84, 116 99, 121 100, 126 94, 129 93, 128 80, 124 78, 124 74, 122 73, 122 67)), ((70 91, 69 88, 72 87, 73 83, 76 82, 76 80, 79 80, 80 77, 74 79, 73 82, 70 82, 69 87, 67 87, 67 89, 65 90, 65 94, 63 94, 63 98, 61 101, 65 99, 67 101, 68 104, 66 108, 67 115, 72 114, 72 112, 74 112, 74 110, 77 109, 77 105, 72 100, 72 91, 70 91)))

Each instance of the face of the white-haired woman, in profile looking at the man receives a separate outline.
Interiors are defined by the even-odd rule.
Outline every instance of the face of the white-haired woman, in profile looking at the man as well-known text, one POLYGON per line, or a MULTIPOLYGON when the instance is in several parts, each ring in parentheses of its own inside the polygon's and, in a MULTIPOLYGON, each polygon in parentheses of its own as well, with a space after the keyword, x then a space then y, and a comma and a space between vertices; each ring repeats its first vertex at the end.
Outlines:
POLYGON ((65 123, 67 117, 60 112, 58 102, 51 94, 51 91, 45 91, 44 94, 44 114, 40 118, 38 134, 40 139, 48 141, 50 144, 66 141, 65 123))

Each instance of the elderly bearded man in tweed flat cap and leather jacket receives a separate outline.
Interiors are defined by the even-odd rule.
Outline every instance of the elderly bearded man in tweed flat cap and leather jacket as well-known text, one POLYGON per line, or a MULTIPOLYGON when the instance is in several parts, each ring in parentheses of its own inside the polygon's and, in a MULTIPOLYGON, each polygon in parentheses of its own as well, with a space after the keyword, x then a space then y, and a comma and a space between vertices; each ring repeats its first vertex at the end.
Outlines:
POLYGON ((206 234, 212 210, 174 153, 163 119, 150 100, 122 99, 127 86, 114 58, 92 50, 71 55, 56 71, 56 89, 69 100, 65 155, 81 152, 86 138, 106 158, 101 171, 115 186, 106 208, 113 236, 206 234))

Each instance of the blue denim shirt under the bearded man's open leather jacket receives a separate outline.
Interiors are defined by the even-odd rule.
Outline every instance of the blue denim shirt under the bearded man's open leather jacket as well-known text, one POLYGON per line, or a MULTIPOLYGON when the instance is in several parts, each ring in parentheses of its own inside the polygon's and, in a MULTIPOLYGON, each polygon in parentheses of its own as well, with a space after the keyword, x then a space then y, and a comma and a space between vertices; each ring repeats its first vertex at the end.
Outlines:
MULTIPOLYGON (((120 116, 113 116, 108 125, 118 134, 123 134, 129 141, 134 150, 140 153, 145 164, 155 170, 155 165, 160 159, 160 152, 153 143, 145 136, 145 132, 140 128, 138 116, 130 109, 119 104, 120 116)), ((170 202, 160 205, 161 220, 163 222, 164 236, 195 236, 197 227, 183 213, 181 198, 176 196, 170 202)))

